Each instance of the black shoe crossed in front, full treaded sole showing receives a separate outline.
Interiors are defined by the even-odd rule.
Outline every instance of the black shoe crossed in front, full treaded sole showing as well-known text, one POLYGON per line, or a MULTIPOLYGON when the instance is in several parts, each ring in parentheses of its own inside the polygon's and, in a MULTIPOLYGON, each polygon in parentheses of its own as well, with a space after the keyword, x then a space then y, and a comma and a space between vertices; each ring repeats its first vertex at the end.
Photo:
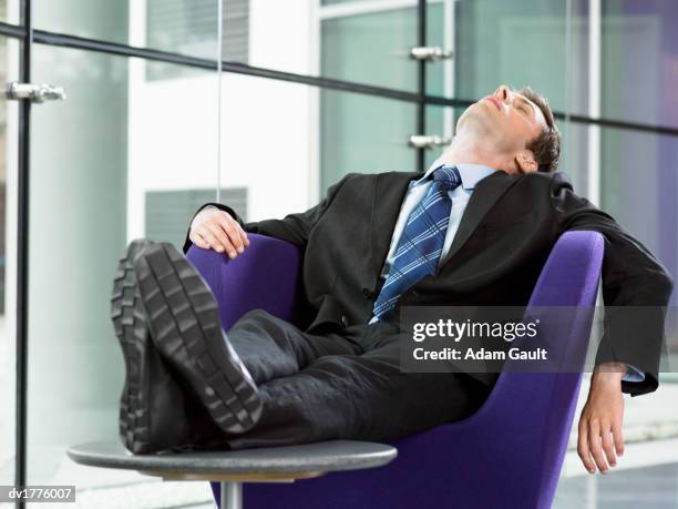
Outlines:
POLYGON ((222 330, 212 292, 173 245, 153 244, 135 264, 151 336, 227 434, 250 429, 261 400, 249 371, 222 330))

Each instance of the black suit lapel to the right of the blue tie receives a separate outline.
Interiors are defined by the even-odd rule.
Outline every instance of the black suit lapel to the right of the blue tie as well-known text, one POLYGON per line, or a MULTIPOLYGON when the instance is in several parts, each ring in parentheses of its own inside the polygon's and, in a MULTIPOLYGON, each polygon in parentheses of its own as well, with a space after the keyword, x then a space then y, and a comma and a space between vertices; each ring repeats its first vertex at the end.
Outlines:
POLYGON ((444 266, 452 256, 465 244, 471 234, 477 228, 485 214, 492 208, 496 201, 504 194, 517 179, 502 171, 496 171, 492 175, 481 180, 476 185, 466 210, 462 215, 459 230, 454 235, 454 241, 450 251, 443 259, 444 266))

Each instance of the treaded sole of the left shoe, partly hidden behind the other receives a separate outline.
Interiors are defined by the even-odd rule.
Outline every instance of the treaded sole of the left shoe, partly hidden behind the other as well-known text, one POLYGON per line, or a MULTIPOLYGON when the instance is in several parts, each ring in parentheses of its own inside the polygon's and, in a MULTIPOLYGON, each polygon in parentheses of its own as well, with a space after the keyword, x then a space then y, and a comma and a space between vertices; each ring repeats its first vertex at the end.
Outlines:
MULTIPOLYGON (((132 452, 150 450, 150 416, 144 391, 144 362, 153 348, 146 328, 145 311, 136 284, 134 263, 150 246, 145 240, 133 241, 117 264, 111 295, 111 319, 125 358, 125 385, 120 397, 120 437, 132 452)), ((147 396, 147 394, 146 394, 147 396)))

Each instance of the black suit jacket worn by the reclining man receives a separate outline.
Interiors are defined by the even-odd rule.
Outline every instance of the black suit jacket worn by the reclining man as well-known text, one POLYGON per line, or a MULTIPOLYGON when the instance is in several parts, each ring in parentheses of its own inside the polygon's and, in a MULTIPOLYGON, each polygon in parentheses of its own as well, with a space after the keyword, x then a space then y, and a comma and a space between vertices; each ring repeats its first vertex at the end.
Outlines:
MULTIPOLYGON (((246 232, 288 241, 304 250, 302 306, 298 325, 308 332, 366 324, 410 181, 420 173, 349 174, 307 212, 282 220, 244 223, 246 232)), ((205 205, 206 206, 206 205, 205 205)), ((631 395, 653 391, 664 340, 664 313, 672 289, 665 267, 615 220, 577 196, 562 173, 481 180, 464 211, 449 254, 435 276, 408 289, 399 305, 525 306, 558 236, 592 230, 605 237, 603 298, 606 306, 658 306, 643 337, 615 342, 623 330, 606 326, 596 365, 619 360, 643 367, 643 383, 622 383, 631 395), (613 354, 614 350, 614 354, 613 354)), ((186 237, 184 250, 191 241, 186 237)), ((496 374, 473 374, 492 384, 496 374)))

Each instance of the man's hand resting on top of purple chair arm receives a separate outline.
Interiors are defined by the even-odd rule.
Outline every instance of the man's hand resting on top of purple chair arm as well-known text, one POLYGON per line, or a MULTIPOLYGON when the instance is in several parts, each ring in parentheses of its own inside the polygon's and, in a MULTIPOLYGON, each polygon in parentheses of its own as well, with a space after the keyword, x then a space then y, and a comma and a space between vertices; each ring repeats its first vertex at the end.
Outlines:
POLYGON ((238 222, 213 206, 202 210, 193 218, 188 238, 203 250, 226 253, 232 259, 249 246, 247 234, 238 222))

